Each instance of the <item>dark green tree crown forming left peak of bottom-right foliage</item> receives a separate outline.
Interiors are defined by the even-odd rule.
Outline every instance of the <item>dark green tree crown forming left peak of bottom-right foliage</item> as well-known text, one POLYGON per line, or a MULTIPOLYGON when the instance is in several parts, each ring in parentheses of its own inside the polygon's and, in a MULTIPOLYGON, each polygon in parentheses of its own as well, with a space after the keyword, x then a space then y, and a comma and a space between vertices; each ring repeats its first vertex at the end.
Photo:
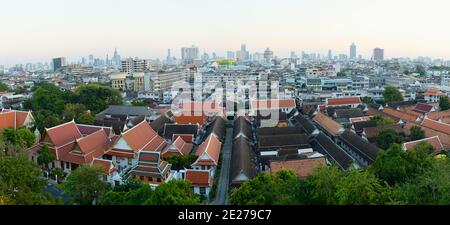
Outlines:
POLYGON ((377 159, 370 170, 387 183, 394 185, 408 179, 408 161, 399 144, 393 144, 387 150, 378 152, 377 159))

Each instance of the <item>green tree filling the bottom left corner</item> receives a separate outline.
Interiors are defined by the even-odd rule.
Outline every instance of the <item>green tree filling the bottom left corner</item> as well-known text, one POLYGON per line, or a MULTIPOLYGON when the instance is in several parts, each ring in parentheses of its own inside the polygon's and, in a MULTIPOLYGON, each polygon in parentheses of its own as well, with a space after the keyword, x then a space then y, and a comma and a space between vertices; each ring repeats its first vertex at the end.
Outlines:
POLYGON ((0 157, 0 199, 6 204, 58 204, 43 192, 46 181, 41 171, 25 156, 0 157))

